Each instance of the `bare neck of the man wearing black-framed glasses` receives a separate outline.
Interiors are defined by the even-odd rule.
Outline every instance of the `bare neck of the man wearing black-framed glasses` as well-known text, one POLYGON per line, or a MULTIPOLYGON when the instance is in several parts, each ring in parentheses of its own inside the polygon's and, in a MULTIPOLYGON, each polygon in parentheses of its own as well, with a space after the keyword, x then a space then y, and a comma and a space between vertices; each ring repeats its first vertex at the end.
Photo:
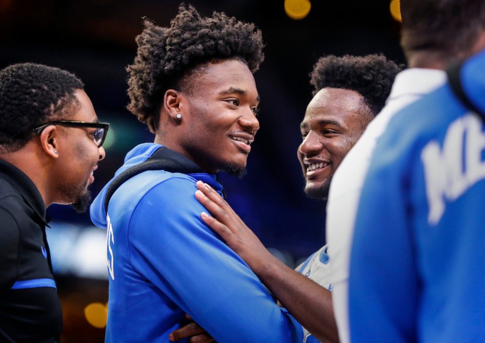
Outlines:
POLYGON ((0 159, 16 166, 32 180, 47 208, 53 203, 49 194, 49 171, 45 161, 42 161, 39 156, 42 155, 38 153, 36 147, 32 143, 27 143, 20 150, 1 153, 0 159))

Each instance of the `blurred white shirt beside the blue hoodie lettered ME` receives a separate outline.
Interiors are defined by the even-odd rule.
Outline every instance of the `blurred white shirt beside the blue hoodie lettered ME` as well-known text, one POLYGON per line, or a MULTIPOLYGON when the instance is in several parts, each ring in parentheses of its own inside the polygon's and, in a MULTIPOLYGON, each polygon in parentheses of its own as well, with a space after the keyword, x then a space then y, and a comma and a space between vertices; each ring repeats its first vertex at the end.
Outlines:
MULTIPOLYGON (((442 70, 412 68, 396 76, 391 94, 379 115, 346 155, 333 175, 327 202, 326 242, 330 257, 332 301, 338 335, 350 342, 348 279, 351 244, 362 186, 377 139, 396 112, 446 82, 442 70)), ((410 123, 412 125, 412 123, 410 123)))

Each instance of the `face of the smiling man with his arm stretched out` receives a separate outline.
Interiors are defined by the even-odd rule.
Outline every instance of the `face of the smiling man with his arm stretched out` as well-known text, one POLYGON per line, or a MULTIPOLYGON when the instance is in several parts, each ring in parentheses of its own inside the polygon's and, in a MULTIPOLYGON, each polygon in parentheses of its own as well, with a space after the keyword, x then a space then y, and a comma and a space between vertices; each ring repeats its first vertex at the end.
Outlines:
POLYGON ((335 169, 373 118, 362 95, 351 89, 324 88, 310 101, 298 149, 309 197, 326 200, 335 169))

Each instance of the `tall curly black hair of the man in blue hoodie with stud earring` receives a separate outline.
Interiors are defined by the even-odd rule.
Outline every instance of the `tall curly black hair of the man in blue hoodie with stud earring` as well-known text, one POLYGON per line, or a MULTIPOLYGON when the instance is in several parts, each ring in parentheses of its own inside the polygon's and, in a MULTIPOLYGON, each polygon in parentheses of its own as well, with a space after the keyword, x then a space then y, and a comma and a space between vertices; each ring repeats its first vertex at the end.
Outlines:
POLYGON ((186 78, 196 67, 213 59, 237 59, 254 73, 263 62, 261 31, 252 23, 237 21, 224 13, 202 17, 192 6, 180 5, 170 27, 145 19, 136 37, 138 51, 127 67, 127 108, 156 132, 165 91, 192 89, 186 78))

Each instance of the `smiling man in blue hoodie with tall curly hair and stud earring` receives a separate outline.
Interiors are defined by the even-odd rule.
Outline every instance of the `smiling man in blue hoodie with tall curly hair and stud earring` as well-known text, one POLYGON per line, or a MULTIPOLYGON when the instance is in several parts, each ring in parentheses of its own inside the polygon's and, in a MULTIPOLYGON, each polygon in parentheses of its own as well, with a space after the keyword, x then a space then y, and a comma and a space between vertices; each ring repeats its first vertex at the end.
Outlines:
POLYGON ((155 142, 131 150, 115 179, 169 165, 123 179, 114 193, 110 182, 91 205, 93 222, 108 229, 106 341, 168 342, 187 313, 219 343, 301 342, 302 326, 204 223, 194 196, 197 181, 222 193, 218 172, 244 174, 259 130, 261 32, 190 6, 170 28, 145 25, 128 67, 128 108, 155 142))

